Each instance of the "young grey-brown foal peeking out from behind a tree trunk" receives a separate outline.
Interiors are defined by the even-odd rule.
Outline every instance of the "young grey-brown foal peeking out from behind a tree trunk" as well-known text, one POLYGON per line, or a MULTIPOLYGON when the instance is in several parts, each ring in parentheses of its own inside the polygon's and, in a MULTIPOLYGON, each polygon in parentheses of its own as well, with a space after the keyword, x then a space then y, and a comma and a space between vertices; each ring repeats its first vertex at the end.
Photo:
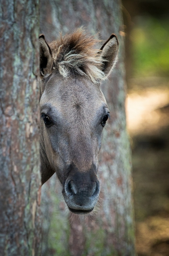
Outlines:
POLYGON ((114 68, 119 43, 99 40, 83 28, 40 43, 40 162, 42 185, 56 173, 70 212, 92 212, 102 130, 110 117, 100 83, 114 68))

